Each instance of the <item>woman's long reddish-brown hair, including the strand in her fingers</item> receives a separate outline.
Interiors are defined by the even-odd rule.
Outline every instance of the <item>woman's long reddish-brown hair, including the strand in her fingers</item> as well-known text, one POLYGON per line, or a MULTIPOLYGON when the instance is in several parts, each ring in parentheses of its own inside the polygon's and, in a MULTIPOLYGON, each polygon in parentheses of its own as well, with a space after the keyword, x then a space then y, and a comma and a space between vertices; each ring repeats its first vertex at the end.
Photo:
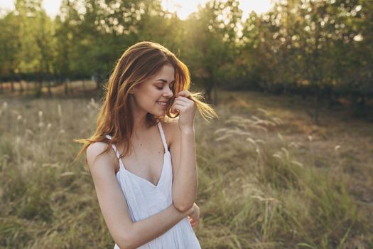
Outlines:
MULTIPOLYGON (((188 90, 190 87, 190 74, 188 67, 182 63, 171 51, 158 43, 143 41, 134 44, 124 51, 119 58, 112 75, 107 83, 104 95, 104 102, 97 117, 96 131, 90 138, 75 139, 75 142, 82 143, 82 149, 75 159, 78 159, 85 152, 87 147, 94 142, 106 142, 107 149, 102 152, 109 152, 112 144, 124 142, 124 151, 121 157, 131 153, 131 134, 133 127, 133 114, 130 108, 129 90, 135 85, 144 83, 158 73, 163 65, 171 64, 175 69, 175 83, 173 84, 173 97, 166 106, 166 115, 170 118, 178 117, 178 114, 171 114, 171 105, 175 100, 176 93, 188 90), (112 139, 107 139, 109 134, 112 139)), ((208 121, 217 117, 215 111, 203 102, 202 93, 194 92, 190 97, 202 115, 208 121)), ((146 115, 148 126, 156 124, 159 117, 146 115)))

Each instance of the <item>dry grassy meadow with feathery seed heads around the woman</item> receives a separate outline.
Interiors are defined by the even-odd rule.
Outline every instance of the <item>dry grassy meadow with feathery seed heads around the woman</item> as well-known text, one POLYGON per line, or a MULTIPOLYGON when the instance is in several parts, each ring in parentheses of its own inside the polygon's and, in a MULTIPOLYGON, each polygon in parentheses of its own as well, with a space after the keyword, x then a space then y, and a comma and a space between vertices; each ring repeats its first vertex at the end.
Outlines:
MULTIPOLYGON (((373 123, 219 92, 195 120, 202 248, 373 248, 373 123)), ((97 100, 0 100, 0 248, 113 248, 84 159, 97 100)))

